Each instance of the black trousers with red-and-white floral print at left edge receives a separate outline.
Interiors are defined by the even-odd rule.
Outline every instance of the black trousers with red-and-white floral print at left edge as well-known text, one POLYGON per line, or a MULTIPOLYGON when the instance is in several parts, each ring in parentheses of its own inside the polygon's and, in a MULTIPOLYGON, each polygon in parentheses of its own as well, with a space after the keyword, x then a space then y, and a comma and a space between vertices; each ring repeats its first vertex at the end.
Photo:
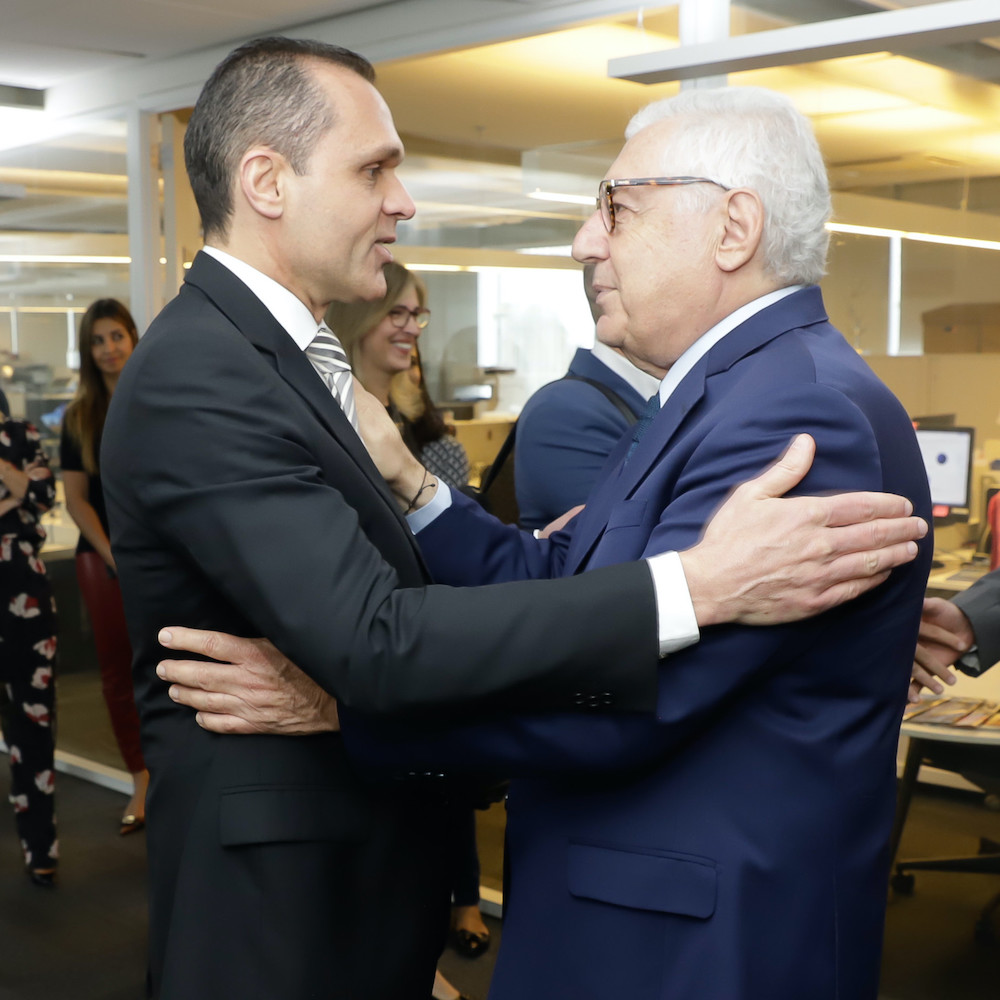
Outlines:
POLYGON ((53 868, 56 615, 45 567, 15 535, 0 538, 0 726, 25 864, 53 868))

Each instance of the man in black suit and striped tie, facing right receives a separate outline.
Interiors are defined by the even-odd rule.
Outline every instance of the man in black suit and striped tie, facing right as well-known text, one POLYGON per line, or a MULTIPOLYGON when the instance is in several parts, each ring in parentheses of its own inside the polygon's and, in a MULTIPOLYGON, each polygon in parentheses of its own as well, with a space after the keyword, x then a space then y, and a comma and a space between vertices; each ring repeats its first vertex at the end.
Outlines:
POLYGON ((672 612, 796 617, 883 579, 919 530, 909 518, 825 527, 908 513, 899 498, 770 499, 804 473, 800 449, 791 481, 751 484, 723 513, 760 524, 747 533, 760 551, 734 549, 723 529, 658 563, 429 586, 400 512, 435 484, 387 490, 320 327, 331 300, 383 294, 388 244, 414 211, 371 80, 354 53, 289 39, 249 43, 216 69, 185 140, 206 248, 108 415, 102 471, 151 773, 150 981, 163 1000, 420 997, 448 906, 428 788, 441 782, 368 785, 332 734, 204 732, 155 675, 164 625, 266 635, 367 710, 648 710, 658 656, 691 639, 672 612), (312 360, 317 341, 326 362, 312 360))

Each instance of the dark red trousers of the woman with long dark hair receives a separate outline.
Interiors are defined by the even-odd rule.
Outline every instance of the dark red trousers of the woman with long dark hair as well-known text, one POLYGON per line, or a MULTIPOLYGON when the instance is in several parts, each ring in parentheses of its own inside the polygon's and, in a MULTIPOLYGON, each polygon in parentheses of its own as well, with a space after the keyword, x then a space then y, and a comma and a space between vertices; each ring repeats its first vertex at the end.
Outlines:
POLYGON ((101 688, 111 728, 125 767, 135 774, 144 771, 146 763, 139 744, 139 716, 132 688, 132 645, 125 627, 121 588, 96 552, 77 553, 76 579, 94 630, 101 688))

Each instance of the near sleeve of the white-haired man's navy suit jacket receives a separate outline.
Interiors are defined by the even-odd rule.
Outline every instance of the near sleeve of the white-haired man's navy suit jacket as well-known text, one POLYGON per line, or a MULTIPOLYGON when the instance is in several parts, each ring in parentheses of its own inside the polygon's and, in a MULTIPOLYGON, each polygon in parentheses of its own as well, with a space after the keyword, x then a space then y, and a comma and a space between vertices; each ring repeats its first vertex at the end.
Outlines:
MULTIPOLYGON (((772 393, 767 407, 721 416, 692 453, 649 538, 645 555, 693 544, 729 490, 756 475, 795 432, 813 435, 815 463, 796 492, 879 490, 883 477, 869 422, 845 396, 807 385, 772 393)), ((583 574, 587 576, 588 574, 583 574)), ((493 769, 511 776, 641 768, 697 736, 748 688, 836 637, 843 609, 794 625, 705 630, 659 671, 655 718, 511 718, 451 732, 386 732, 343 720, 352 754, 381 770, 493 769)))

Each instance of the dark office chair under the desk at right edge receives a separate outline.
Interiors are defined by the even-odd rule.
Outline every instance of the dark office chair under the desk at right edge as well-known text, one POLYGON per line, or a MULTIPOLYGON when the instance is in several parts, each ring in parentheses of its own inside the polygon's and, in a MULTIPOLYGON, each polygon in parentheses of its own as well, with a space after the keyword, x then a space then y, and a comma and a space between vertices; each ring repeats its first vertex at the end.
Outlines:
MULTIPOLYGON (((995 747, 976 747, 956 743, 945 745, 935 740, 921 740, 911 736, 896 803, 896 823, 892 833, 893 859, 895 859, 899 847, 899 838, 906 821, 910 798, 922 762, 961 774, 987 792, 1000 792, 1000 754, 995 747), (984 770, 980 770, 981 768, 985 769, 985 773, 984 770)), ((916 871, 974 872, 1000 875, 1000 843, 981 837, 977 854, 965 857, 914 858, 898 861, 894 865, 893 875, 889 881, 893 891, 901 896, 912 895, 915 878, 911 873, 916 871)), ((994 915, 998 912, 1000 912, 1000 893, 986 904, 976 920, 974 936, 980 944, 991 944, 997 940, 994 915)))

